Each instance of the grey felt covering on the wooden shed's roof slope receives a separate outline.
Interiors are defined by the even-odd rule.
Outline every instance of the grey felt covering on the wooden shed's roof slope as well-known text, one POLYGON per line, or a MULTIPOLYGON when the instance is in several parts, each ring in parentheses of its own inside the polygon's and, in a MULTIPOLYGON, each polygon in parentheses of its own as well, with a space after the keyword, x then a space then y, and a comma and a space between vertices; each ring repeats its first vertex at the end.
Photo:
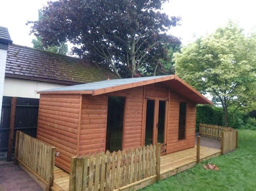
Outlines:
MULTIPOLYGON (((169 75, 169 76, 174 76, 174 75, 169 75)), ((94 90, 110 88, 110 87, 115 87, 115 86, 120 86, 120 85, 125 85, 125 84, 131 84, 131 83, 137 83, 137 82, 143 82, 143 81, 158 79, 158 78, 163 78, 163 77, 167 77, 167 76, 152 76, 152 77, 141 77, 141 78, 104 80, 104 81, 92 82, 92 83, 88 83, 88 84, 80 84, 80 85, 67 86, 67 87, 62 87, 62 88, 42 90, 42 91, 38 91, 37 93, 41 93, 41 92, 67 92, 67 91, 68 92, 69 91, 72 91, 72 92, 76 92, 76 91, 94 91, 94 90)))

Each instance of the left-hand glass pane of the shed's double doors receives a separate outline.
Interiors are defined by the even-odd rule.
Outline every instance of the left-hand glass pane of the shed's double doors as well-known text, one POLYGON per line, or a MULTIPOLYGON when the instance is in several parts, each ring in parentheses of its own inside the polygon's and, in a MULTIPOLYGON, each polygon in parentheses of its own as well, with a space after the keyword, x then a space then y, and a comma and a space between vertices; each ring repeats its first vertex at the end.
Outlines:
POLYGON ((152 144, 155 100, 147 100, 145 145, 152 144))

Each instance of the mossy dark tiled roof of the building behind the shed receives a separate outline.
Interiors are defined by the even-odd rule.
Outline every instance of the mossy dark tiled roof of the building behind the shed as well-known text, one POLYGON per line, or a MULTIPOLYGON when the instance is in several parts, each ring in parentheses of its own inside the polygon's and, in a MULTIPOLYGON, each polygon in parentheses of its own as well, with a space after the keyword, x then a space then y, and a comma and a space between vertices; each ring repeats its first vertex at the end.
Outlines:
POLYGON ((5 75, 67 84, 117 78, 105 65, 16 44, 8 47, 5 75))

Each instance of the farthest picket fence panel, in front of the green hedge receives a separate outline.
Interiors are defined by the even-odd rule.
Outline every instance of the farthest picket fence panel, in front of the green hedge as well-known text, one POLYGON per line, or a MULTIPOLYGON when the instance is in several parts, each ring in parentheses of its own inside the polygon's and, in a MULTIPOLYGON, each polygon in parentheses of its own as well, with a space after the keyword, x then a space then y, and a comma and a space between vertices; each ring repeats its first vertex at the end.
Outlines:
POLYGON ((231 127, 199 123, 199 134, 202 137, 221 140, 221 132, 230 128, 231 127))

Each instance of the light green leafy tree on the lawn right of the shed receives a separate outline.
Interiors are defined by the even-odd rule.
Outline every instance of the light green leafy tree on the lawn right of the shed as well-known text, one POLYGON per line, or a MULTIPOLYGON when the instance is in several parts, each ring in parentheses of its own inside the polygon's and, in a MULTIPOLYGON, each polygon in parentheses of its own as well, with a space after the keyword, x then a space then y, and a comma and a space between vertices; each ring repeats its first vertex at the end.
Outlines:
POLYGON ((215 33, 175 53, 179 77, 202 93, 208 92, 222 105, 225 126, 228 110, 255 108, 256 34, 245 36, 237 24, 229 22, 215 33))

